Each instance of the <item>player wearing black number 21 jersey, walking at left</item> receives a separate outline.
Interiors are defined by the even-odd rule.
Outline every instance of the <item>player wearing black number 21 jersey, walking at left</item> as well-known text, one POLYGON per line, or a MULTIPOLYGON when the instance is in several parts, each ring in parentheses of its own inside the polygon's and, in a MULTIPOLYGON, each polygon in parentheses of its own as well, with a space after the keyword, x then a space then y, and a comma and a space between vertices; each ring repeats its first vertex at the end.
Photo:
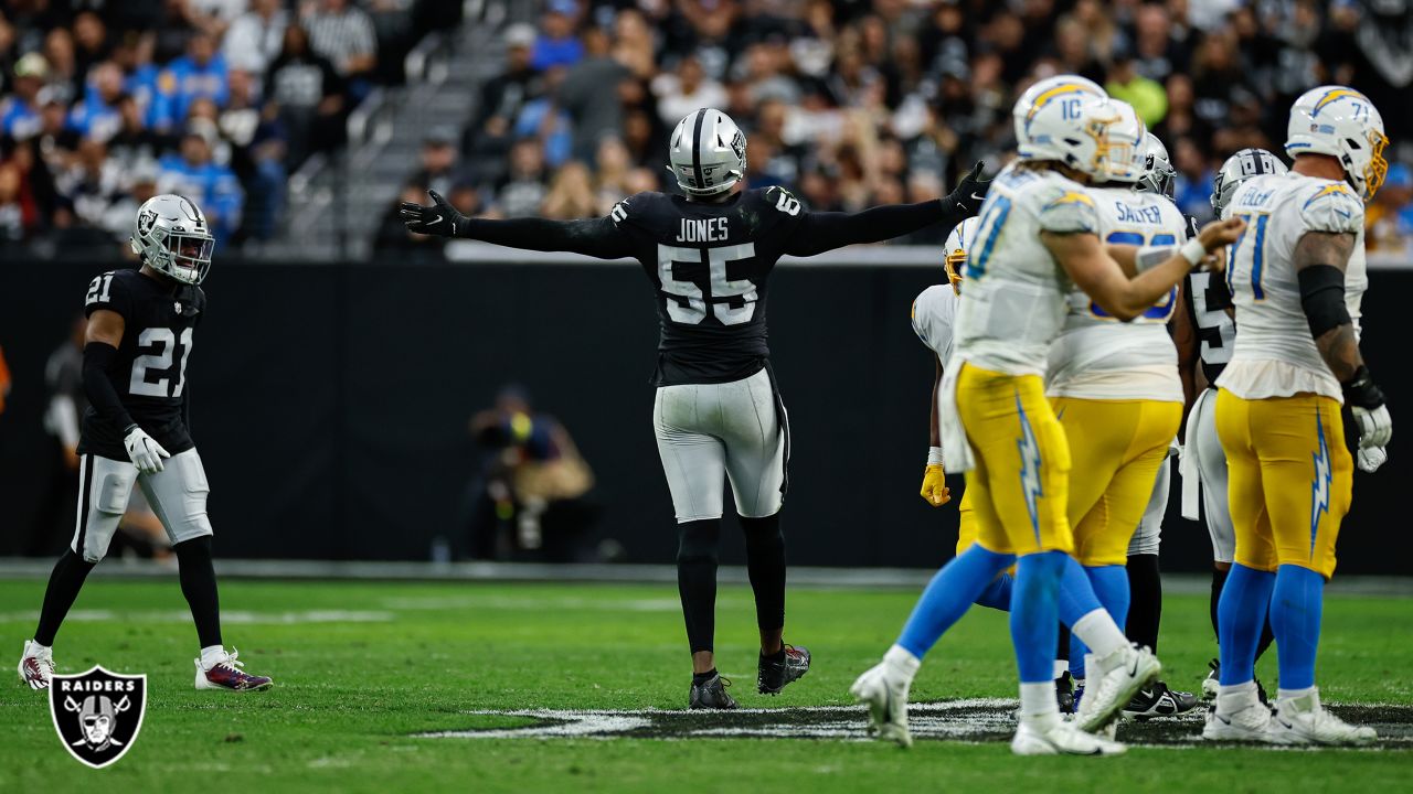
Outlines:
POLYGON ((199 284, 211 268, 206 218, 175 195, 137 211, 130 240, 140 270, 114 270, 89 284, 83 390, 89 408, 79 435, 79 506, 73 543, 44 592, 20 675, 44 689, 54 675, 54 636, 103 559, 136 483, 161 519, 179 565, 181 591, 201 640, 198 689, 252 691, 271 685, 242 670, 220 640, 216 572, 206 519, 206 472, 191 439, 187 359, 206 311, 199 284))

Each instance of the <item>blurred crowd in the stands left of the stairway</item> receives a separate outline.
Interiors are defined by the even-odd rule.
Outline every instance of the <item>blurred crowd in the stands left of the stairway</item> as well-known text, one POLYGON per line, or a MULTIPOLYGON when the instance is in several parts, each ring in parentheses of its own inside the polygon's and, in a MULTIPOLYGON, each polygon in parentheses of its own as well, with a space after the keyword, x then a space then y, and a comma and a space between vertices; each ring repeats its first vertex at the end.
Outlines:
POLYGON ((268 239, 288 174, 459 6, 0 0, 0 249, 110 246, 158 192, 222 244, 268 239))

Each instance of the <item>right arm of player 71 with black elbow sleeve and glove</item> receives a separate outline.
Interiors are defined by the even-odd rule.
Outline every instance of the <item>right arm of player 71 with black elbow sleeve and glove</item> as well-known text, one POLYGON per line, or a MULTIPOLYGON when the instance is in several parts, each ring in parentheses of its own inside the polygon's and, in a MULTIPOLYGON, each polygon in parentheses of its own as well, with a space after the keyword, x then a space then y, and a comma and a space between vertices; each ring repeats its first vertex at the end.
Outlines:
MULTIPOLYGON (((1364 366, 1354 319, 1344 301, 1344 274, 1354 251, 1354 235, 1306 232, 1291 260, 1300 280, 1300 308, 1310 322, 1320 357, 1344 389, 1344 401, 1359 425, 1359 448, 1383 446, 1393 437, 1393 420, 1383 391, 1364 366)), ((1378 466, 1373 466, 1378 468, 1378 466)))

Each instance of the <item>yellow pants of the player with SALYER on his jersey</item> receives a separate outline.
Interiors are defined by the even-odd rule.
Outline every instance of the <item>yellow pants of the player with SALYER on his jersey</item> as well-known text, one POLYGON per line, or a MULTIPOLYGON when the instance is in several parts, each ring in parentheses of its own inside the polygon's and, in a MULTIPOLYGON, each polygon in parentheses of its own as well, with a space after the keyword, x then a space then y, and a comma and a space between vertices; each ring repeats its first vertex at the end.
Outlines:
POLYGON ((1183 404, 1053 397, 1050 405, 1074 463, 1067 509, 1074 555, 1081 565, 1123 565, 1183 421, 1183 404))

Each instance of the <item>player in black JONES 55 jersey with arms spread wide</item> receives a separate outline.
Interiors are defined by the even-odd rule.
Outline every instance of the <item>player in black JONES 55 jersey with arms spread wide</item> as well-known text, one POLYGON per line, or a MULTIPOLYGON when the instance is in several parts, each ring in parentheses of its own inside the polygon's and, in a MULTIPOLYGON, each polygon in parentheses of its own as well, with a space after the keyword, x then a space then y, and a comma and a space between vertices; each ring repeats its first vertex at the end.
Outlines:
POLYGON ((938 201, 858 213, 810 212, 783 188, 745 189, 746 137, 725 113, 695 110, 670 138, 681 196, 643 192, 608 218, 469 219, 431 192, 403 203, 408 230, 541 251, 636 259, 657 292, 660 343, 653 425, 678 524, 677 582, 692 654, 691 708, 736 708, 712 657, 722 489, 731 479, 746 534, 760 658, 756 688, 777 694, 810 668, 784 644, 786 554, 780 506, 790 429, 766 345, 766 295, 781 256, 873 243, 975 215, 981 164, 938 201))

